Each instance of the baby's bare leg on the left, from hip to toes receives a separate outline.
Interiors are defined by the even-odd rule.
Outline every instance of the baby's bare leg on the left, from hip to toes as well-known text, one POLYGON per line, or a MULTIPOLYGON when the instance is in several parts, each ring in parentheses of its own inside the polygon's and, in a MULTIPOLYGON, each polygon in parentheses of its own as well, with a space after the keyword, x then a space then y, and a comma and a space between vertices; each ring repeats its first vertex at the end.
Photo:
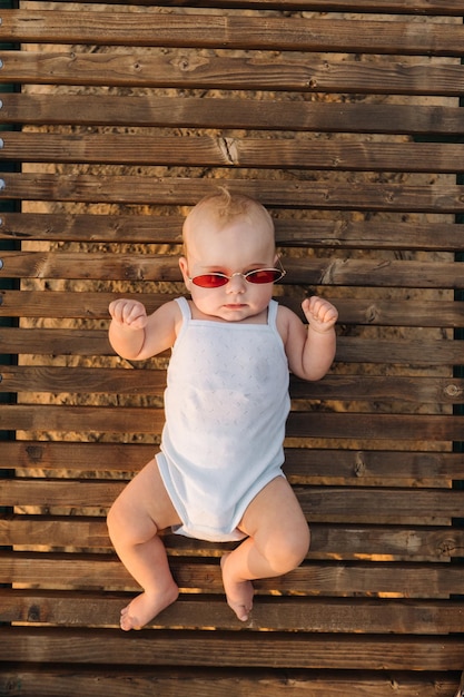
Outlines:
POLYGON ((158 530, 180 520, 166 492, 155 460, 126 487, 108 514, 108 531, 118 557, 144 588, 121 611, 121 628, 140 629, 177 599, 158 530))

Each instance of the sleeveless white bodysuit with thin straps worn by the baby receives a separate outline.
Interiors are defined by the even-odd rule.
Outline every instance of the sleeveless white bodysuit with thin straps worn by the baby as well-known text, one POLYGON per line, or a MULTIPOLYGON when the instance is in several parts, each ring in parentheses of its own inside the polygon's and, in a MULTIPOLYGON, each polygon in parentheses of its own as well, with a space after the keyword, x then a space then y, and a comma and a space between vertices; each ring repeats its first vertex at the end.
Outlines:
MULTIPOLYGON (((276 327, 192 320, 177 298, 182 325, 168 369, 166 425, 157 455, 182 524, 174 531, 209 541, 239 540, 245 510, 284 475, 288 362, 276 327)), ((276 511, 278 514, 278 511, 276 511)))

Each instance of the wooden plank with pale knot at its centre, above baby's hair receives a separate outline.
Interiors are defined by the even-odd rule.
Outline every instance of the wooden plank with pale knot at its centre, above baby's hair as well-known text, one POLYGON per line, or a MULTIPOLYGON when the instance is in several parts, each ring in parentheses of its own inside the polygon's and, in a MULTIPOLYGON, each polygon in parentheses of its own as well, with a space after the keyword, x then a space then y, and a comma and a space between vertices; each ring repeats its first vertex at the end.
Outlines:
POLYGON ((0 160, 12 161, 441 174, 464 170, 464 146, 443 143, 6 131, 2 144, 0 160))

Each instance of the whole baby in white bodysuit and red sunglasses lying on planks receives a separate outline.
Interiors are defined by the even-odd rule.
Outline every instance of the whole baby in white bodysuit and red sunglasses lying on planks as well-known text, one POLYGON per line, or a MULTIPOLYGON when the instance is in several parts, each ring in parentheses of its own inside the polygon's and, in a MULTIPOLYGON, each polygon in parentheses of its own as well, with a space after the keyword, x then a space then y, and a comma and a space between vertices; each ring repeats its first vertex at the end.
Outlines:
POLYGON ((309 529, 282 471, 289 371, 319 380, 335 355, 336 308, 303 302, 309 326, 272 298, 285 275, 274 224, 256 200, 226 189, 200 200, 184 223, 179 259, 191 300, 109 306, 109 338, 125 359, 172 348, 160 452, 108 514, 115 549, 144 592, 121 611, 139 629, 178 596, 158 532, 240 543, 221 558, 227 602, 239 620, 253 580, 295 569, 309 529))

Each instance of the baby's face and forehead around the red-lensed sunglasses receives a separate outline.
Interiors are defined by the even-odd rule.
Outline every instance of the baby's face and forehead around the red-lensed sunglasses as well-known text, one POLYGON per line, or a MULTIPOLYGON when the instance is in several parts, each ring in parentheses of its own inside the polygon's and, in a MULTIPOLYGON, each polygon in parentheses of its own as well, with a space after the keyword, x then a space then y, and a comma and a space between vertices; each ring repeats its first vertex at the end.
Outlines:
POLYGON ((188 235, 187 257, 180 259, 184 281, 200 314, 225 322, 265 321, 273 284, 254 284, 236 275, 218 288, 201 288, 191 278, 219 272, 227 276, 275 266, 274 233, 265 219, 237 217, 217 230, 206 217, 188 235))

